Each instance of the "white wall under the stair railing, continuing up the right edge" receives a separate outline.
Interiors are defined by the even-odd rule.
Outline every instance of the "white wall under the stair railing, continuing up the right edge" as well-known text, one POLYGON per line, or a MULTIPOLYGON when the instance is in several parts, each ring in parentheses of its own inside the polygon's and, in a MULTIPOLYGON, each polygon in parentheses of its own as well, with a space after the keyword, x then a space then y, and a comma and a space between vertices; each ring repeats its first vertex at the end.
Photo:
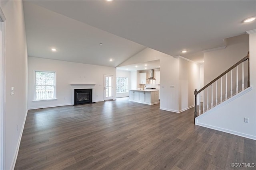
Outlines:
MULTIPOLYGON (((256 140, 256 30, 250 34, 250 86, 252 90, 208 114, 196 118, 198 125, 256 140), (249 123, 244 123, 244 117, 249 123)), ((245 51, 244 51, 245 52, 245 51)), ((246 52, 247 53, 247 52, 246 52)), ((244 54, 243 54, 244 55, 244 54)))

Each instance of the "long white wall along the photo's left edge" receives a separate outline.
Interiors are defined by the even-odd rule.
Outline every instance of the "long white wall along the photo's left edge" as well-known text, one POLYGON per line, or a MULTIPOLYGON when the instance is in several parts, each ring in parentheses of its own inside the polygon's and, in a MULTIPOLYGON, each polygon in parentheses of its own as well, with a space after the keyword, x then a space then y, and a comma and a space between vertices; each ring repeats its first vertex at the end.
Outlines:
POLYGON ((27 47, 22 1, 2 1, 6 17, 5 169, 13 169, 27 113, 27 47), (14 95, 10 95, 14 87, 14 95), (17 131, 18 126, 18 131, 17 131))

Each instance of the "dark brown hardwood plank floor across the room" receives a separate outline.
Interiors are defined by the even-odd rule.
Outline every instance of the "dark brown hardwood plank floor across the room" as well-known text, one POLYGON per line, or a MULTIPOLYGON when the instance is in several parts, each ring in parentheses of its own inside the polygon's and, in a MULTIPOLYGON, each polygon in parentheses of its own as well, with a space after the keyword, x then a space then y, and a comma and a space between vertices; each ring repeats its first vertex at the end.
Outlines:
POLYGON ((128 98, 29 110, 16 170, 228 170, 256 163, 256 141, 194 125, 128 98))

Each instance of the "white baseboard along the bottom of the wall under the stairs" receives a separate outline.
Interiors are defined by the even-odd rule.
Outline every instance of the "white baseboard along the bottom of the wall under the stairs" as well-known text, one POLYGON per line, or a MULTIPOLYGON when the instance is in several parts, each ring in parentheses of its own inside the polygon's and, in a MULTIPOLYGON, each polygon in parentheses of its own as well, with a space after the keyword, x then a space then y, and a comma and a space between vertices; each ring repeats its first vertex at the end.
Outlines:
POLYGON ((231 131, 231 130, 228 130, 228 129, 224 129, 224 128, 216 127, 216 126, 212 126, 212 125, 206 125, 204 123, 198 123, 197 120, 196 120, 195 124, 198 125, 198 126, 207 127, 207 128, 214 129, 214 130, 217 130, 217 131, 222 131, 222 132, 230 133, 230 134, 233 134, 233 135, 237 135, 237 136, 241 136, 241 137, 256 140, 256 136, 248 135, 248 134, 245 134, 245 133, 240 133, 240 132, 237 132, 237 131, 231 131))

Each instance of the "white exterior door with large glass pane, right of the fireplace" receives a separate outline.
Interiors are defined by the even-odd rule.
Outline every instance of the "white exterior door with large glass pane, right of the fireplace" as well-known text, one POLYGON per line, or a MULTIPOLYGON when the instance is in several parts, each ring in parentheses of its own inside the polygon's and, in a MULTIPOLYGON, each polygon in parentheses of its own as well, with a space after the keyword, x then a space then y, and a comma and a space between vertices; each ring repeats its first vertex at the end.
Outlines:
POLYGON ((104 100, 113 100, 113 76, 104 75, 104 100))

